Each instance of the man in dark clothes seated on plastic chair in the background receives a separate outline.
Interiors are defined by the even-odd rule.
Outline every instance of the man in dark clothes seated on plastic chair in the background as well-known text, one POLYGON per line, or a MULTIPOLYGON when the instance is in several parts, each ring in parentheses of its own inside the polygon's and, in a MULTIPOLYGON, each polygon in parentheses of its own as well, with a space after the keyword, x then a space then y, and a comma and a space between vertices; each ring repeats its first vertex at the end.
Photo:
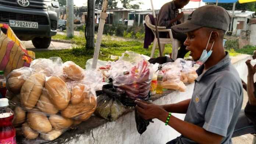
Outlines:
MULTIPOLYGON (((173 0, 164 4, 158 14, 158 26, 165 26, 167 29, 171 29, 172 26, 180 24, 179 20, 183 17, 183 12, 179 13, 178 9, 186 6, 188 2, 189 0, 173 0)), ((160 32, 160 37, 170 36, 168 36, 167 32, 160 32)), ((188 53, 186 46, 183 44, 186 40, 186 34, 173 32, 173 37, 182 43, 177 58, 184 58, 185 54, 188 53)))

